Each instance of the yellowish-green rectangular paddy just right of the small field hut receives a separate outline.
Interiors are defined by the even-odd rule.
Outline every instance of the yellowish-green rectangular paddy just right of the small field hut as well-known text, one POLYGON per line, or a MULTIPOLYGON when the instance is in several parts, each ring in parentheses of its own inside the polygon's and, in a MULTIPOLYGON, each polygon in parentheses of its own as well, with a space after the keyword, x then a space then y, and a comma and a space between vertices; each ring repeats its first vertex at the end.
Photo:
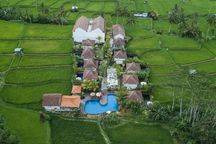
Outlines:
POLYGON ((73 46, 71 40, 24 40, 20 47, 25 53, 69 53, 73 46))

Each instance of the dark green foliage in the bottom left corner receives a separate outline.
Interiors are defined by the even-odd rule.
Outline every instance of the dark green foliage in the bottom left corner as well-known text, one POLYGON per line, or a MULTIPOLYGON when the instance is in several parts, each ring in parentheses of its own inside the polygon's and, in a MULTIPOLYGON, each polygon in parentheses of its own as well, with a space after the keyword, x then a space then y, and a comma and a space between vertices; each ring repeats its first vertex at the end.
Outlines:
POLYGON ((18 138, 5 128, 4 119, 0 115, 0 144, 18 144, 18 138))

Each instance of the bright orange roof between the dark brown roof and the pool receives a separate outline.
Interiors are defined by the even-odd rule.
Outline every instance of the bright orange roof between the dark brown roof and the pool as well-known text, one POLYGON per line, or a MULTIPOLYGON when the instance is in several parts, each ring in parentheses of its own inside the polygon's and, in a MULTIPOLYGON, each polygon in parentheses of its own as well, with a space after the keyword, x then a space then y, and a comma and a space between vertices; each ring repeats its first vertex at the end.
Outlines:
POLYGON ((80 96, 77 95, 62 96, 61 99, 61 107, 65 107, 65 108, 74 108, 74 107, 79 108, 80 103, 81 103, 81 98, 80 96))

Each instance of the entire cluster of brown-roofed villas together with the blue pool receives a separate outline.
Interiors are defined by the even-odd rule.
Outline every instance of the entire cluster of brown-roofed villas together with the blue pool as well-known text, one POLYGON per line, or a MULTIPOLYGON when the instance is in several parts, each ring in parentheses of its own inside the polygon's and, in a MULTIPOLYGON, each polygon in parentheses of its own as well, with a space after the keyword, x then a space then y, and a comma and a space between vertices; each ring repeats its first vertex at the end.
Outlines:
MULTIPOLYGON (((82 74, 77 74, 76 80, 98 81, 98 67, 100 60, 96 58, 96 45, 105 43, 106 28, 105 20, 99 16, 88 19, 81 16, 75 23, 73 30, 73 40, 75 44, 81 45, 79 57, 83 60, 81 67, 84 69, 82 74)), ((112 26, 111 38, 109 41, 112 58, 116 65, 124 69, 124 74, 117 76, 117 70, 113 66, 108 66, 106 77, 102 78, 100 91, 97 93, 86 93, 85 98, 81 99, 82 86, 73 85, 71 95, 44 94, 43 107, 47 111, 71 111, 73 108, 82 107, 82 111, 87 114, 101 114, 104 112, 118 111, 118 101, 113 90, 122 85, 128 90, 126 98, 129 101, 143 102, 142 92, 136 90, 140 85, 136 75, 141 71, 139 63, 128 62, 125 50, 126 36, 123 26, 115 24, 112 26), (112 92, 109 90, 112 89, 112 92)), ((145 84, 145 83, 142 83, 145 84)))

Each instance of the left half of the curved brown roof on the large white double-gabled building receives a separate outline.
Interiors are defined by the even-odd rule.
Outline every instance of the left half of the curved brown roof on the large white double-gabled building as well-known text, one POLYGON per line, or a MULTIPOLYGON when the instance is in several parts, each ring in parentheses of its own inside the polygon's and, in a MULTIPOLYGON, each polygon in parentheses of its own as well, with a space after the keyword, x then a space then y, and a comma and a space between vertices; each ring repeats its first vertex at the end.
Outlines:
POLYGON ((81 16, 75 23, 74 27, 73 27, 73 32, 77 29, 77 28, 81 28, 85 31, 88 30, 88 26, 89 26, 89 20, 87 17, 85 16, 81 16))

